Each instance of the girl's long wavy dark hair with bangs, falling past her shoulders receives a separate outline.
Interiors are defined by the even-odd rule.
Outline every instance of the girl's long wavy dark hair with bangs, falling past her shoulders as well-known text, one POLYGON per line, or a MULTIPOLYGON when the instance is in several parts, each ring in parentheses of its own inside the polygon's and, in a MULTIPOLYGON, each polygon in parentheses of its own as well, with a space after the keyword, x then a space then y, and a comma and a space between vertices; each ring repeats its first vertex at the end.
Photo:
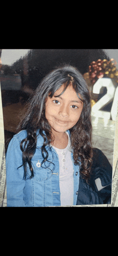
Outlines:
POLYGON ((31 160, 36 150, 38 135, 40 134, 44 140, 41 147, 43 157, 42 163, 48 161, 48 151, 46 150, 46 146, 48 145, 50 147, 50 143, 54 140, 50 124, 45 117, 46 99, 48 96, 52 98, 54 93, 62 85, 64 85, 65 91, 70 83, 72 84, 73 89, 75 89, 77 96, 79 93, 81 100, 83 101, 83 110, 80 118, 76 125, 70 129, 73 161, 75 165, 79 165, 81 163, 80 172, 86 181, 90 177, 92 164, 91 97, 82 74, 80 74, 75 67, 64 65, 61 68, 56 68, 51 71, 42 79, 34 91, 32 98, 28 100, 24 113, 22 113, 23 119, 19 123, 17 131, 27 130, 27 137, 20 143, 20 149, 23 152, 24 179, 26 179, 27 175, 27 163, 31 171, 30 178, 34 177, 31 160))

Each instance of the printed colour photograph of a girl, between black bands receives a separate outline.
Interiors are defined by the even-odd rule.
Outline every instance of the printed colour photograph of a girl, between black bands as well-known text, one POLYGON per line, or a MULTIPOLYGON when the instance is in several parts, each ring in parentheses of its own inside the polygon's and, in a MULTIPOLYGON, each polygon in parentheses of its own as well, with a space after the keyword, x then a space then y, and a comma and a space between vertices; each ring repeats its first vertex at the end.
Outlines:
POLYGON ((0 206, 117 206, 117 49, 0 49, 0 206))

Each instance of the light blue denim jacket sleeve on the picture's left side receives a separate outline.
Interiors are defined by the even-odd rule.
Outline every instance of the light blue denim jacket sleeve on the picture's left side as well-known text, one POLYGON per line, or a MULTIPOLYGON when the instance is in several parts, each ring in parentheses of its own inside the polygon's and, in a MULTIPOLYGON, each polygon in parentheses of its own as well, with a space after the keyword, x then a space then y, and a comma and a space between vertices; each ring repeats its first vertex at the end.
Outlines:
POLYGON ((8 207, 23 207, 23 190, 25 187, 24 167, 22 165, 22 152, 20 150, 20 141, 14 135, 9 143, 6 153, 6 195, 8 207))

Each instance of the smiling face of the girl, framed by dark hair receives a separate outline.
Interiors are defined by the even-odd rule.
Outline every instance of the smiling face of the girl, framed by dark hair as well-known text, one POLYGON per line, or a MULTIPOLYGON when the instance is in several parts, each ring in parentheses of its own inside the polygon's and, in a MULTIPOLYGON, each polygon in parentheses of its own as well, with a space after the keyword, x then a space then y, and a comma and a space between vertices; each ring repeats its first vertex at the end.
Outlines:
POLYGON ((69 85, 61 96, 55 97, 63 90, 64 85, 54 93, 52 98, 48 96, 46 101, 45 115, 54 134, 55 132, 64 133, 75 126, 83 109, 83 102, 77 97, 72 85, 69 85))

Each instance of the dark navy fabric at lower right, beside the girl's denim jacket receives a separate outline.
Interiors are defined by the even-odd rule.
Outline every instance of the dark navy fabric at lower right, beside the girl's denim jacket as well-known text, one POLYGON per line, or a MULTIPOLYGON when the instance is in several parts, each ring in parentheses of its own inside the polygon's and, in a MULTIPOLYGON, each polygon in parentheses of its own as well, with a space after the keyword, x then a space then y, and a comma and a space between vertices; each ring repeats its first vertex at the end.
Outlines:
POLYGON ((112 194, 112 166, 104 153, 93 149, 93 164, 88 183, 80 173, 77 205, 108 204, 112 194), (95 180, 101 180, 102 188, 98 190, 95 180))

